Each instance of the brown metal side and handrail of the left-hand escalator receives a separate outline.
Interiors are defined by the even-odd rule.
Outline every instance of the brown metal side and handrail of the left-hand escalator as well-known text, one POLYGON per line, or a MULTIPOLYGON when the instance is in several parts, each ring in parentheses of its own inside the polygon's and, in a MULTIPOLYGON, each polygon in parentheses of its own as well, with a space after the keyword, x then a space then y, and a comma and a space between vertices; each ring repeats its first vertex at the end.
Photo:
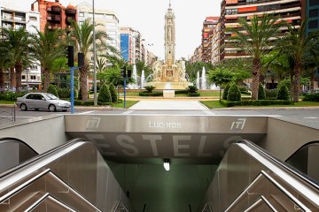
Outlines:
POLYGON ((0 178, 0 211, 132 211, 88 141, 73 140, 19 166, 0 178))

